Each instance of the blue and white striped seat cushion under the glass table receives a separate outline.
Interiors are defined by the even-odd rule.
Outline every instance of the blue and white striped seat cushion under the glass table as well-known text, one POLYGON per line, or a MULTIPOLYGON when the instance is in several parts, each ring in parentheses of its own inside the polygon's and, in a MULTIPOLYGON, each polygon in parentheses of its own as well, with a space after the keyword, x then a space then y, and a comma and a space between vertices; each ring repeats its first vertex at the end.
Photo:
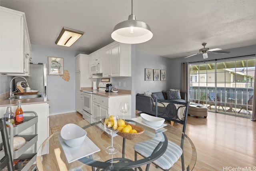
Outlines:
MULTIPOLYGON (((146 141, 142 141, 134 145, 134 150, 140 153, 143 157, 148 157, 152 154, 158 143, 162 140, 160 137, 155 137, 146 141)), ((168 141, 168 147, 164 154, 153 161, 162 169, 170 169, 182 155, 182 149, 176 143, 168 141)))

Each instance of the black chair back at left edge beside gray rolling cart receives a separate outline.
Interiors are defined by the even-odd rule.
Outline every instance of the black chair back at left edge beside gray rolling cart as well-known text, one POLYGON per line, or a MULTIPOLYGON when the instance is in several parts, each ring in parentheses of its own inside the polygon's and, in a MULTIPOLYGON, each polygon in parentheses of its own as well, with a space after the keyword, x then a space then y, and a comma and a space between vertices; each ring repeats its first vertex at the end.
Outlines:
POLYGON ((5 117, 0 118, 0 131, 4 147, 4 157, 2 157, 2 159, 0 160, 0 170, 2 170, 7 164, 8 171, 14 171, 5 117))

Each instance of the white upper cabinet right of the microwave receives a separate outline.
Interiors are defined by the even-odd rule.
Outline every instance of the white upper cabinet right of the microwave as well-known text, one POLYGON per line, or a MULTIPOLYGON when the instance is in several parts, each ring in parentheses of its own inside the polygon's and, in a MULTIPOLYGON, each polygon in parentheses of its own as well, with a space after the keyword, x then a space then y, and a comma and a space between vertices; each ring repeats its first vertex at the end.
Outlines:
POLYGON ((131 76, 131 45, 114 42, 103 49, 102 77, 131 76))

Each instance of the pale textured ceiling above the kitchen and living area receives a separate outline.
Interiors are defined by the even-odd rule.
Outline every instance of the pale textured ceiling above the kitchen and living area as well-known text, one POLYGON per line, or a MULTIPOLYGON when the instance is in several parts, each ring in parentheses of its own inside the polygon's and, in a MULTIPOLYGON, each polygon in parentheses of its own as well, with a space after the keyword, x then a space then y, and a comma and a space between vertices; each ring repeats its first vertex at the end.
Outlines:
MULTIPOLYGON (((91 53, 114 40, 116 24, 131 14, 130 0, 0 0, 25 12, 31 44, 91 53), (85 32, 71 47, 54 42, 62 27, 85 32)), ((137 50, 167 58, 207 48, 256 44, 256 0, 134 0, 133 14, 150 25, 153 38, 137 50)))

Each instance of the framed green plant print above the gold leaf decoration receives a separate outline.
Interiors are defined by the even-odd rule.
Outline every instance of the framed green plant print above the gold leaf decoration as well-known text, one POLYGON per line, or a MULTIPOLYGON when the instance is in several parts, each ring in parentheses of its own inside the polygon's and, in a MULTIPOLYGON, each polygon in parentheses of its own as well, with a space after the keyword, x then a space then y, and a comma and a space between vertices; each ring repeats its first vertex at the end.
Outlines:
POLYGON ((64 58, 48 56, 48 75, 63 75, 64 58))

